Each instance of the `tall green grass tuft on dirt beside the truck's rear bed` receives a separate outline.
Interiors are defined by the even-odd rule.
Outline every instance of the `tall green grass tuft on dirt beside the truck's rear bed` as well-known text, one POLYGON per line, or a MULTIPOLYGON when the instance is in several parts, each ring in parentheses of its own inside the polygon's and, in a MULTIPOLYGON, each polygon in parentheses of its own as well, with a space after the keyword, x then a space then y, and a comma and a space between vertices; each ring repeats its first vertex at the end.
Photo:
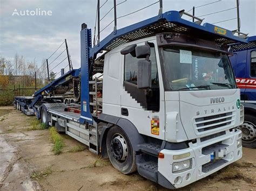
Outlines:
POLYGON ((64 142, 62 137, 60 137, 59 133, 57 132, 56 128, 52 126, 50 128, 51 133, 51 141, 54 144, 52 147, 52 151, 54 154, 59 155, 62 152, 62 148, 64 147, 64 142))

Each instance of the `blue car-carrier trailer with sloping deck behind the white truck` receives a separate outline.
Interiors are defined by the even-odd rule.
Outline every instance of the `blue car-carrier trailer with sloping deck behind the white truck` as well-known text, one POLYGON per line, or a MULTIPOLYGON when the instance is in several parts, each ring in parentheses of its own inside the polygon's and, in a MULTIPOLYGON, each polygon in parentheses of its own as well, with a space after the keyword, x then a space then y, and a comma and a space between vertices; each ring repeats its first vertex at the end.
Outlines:
POLYGON ((79 103, 79 75, 80 69, 72 69, 36 91, 32 96, 15 96, 14 107, 25 115, 36 115, 40 119, 39 108, 43 103, 79 103))

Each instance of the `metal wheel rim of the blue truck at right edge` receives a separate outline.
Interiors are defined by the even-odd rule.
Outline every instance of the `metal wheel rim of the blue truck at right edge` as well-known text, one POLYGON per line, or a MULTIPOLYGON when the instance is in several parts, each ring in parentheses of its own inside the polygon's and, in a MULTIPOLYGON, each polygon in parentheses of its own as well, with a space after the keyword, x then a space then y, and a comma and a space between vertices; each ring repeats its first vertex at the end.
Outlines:
POLYGON ((252 141, 255 138, 256 126, 253 123, 245 121, 238 129, 242 131, 243 140, 252 141))

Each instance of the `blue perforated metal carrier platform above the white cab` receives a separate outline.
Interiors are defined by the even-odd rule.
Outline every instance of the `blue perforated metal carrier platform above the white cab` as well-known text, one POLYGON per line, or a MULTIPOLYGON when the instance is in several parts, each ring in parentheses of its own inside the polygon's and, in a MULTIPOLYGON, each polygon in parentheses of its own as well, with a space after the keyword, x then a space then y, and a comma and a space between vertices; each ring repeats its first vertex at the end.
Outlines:
POLYGON ((162 32, 190 34, 195 38, 214 41, 219 46, 233 43, 247 43, 247 40, 234 36, 230 30, 209 23, 201 26, 200 24, 203 19, 192 16, 198 20, 193 23, 181 18, 183 15, 192 16, 184 10, 167 11, 142 22, 113 31, 109 36, 100 41, 97 46, 90 49, 89 57, 92 58, 100 51, 110 51, 130 41, 151 37, 162 32))

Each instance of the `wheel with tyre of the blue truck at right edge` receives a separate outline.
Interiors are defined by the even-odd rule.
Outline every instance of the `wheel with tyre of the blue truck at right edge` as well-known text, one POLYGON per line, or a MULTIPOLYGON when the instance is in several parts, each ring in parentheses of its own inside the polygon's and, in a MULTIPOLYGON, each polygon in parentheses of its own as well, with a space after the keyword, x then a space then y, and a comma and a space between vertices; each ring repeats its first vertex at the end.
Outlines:
POLYGON ((242 131, 242 146, 256 148, 256 117, 245 114, 245 120, 239 128, 242 131))

